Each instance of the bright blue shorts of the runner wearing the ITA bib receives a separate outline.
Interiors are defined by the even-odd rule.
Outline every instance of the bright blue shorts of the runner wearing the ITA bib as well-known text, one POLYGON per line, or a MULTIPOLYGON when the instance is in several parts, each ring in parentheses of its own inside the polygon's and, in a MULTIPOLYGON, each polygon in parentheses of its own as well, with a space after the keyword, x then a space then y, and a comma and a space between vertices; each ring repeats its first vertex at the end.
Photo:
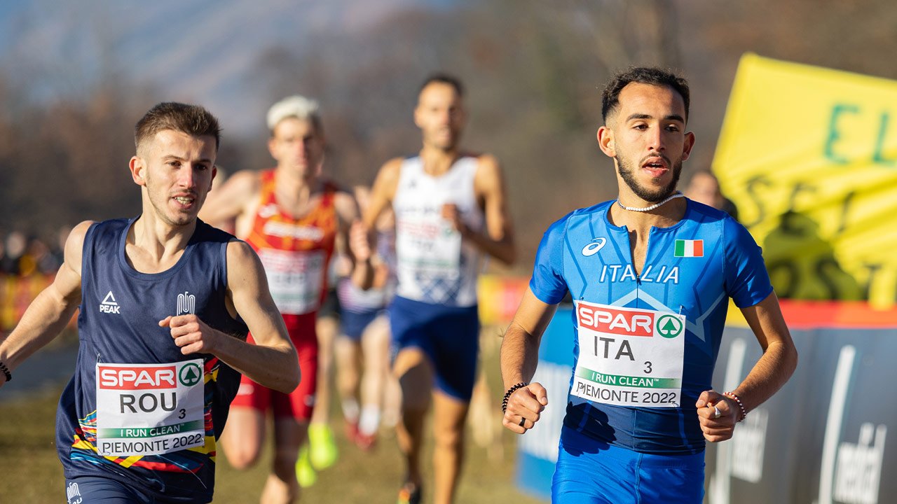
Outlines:
POLYGON ((703 498, 704 452, 638 453, 561 430, 553 504, 701 504, 703 498))

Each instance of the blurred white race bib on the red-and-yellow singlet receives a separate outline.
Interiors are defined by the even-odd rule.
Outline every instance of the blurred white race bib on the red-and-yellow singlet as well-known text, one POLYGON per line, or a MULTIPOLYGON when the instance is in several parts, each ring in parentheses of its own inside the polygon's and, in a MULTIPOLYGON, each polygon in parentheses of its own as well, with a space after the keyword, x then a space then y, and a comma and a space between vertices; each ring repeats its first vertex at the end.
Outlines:
POLYGON ((324 250, 262 248, 268 289, 281 313, 300 315, 318 309, 324 282, 324 250))

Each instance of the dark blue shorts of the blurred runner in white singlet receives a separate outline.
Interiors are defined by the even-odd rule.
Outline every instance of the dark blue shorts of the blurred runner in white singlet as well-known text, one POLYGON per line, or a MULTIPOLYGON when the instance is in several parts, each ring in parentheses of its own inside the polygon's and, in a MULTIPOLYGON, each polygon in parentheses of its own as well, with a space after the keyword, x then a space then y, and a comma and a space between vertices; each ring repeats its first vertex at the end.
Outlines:
POLYGON ((447 307, 399 296, 389 305, 392 356, 417 347, 429 358, 436 387, 461 401, 474 393, 480 317, 476 306, 447 307))

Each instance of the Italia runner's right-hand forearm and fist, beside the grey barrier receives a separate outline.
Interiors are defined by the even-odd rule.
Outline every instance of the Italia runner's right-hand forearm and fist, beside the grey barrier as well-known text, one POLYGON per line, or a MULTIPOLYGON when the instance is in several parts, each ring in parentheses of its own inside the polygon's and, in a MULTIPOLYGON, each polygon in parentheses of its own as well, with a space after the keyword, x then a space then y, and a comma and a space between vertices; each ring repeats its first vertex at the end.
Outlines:
MULTIPOLYGON (((750 412, 769 399, 785 385, 788 378, 791 378, 791 374, 797 368, 797 349, 788 332, 785 318, 782 317, 775 292, 752 307, 741 308, 741 312, 757 337, 763 354, 747 378, 735 390, 728 392, 737 395, 745 407, 745 412, 750 412)), ((736 420, 741 415, 735 400, 709 390, 701 393, 695 405, 698 407, 701 429, 706 439, 716 442, 732 437, 736 420), (722 413, 719 421, 725 423, 725 426, 720 426, 718 425, 720 422, 714 422, 709 418, 712 408, 707 408, 708 404, 718 404, 722 413)))

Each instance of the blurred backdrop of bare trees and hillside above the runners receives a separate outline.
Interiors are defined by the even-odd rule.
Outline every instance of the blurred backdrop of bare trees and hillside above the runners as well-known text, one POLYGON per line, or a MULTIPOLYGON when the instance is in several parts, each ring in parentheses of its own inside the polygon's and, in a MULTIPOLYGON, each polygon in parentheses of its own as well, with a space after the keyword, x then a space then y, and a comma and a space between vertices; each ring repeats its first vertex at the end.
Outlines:
MULTIPOLYGON (((884 0, 112 0, 0 7, 0 230, 44 236, 139 212, 126 164, 132 128, 162 100, 222 118, 227 173, 272 164, 268 105, 320 100, 327 169, 370 183, 416 152, 422 79, 467 86, 464 145, 502 161, 519 235, 518 272, 544 229, 615 195, 597 148, 600 91, 628 65, 663 65, 692 85, 698 137, 686 169, 710 166, 745 51, 897 77, 897 10, 884 0)), ((795 118, 799 127, 800 118, 795 118)), ((761 146, 758 146, 760 149, 761 146)), ((688 171, 684 179, 688 178, 688 171)))

